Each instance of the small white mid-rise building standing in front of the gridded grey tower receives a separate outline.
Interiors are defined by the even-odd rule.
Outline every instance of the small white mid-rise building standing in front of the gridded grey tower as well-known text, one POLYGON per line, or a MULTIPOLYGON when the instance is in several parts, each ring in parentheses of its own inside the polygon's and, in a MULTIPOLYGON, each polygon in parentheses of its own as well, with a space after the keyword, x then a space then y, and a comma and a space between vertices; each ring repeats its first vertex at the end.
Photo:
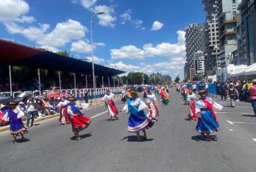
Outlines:
POLYGON ((195 52, 194 53, 194 73, 196 75, 204 75, 205 74, 205 56, 203 52, 195 52))

